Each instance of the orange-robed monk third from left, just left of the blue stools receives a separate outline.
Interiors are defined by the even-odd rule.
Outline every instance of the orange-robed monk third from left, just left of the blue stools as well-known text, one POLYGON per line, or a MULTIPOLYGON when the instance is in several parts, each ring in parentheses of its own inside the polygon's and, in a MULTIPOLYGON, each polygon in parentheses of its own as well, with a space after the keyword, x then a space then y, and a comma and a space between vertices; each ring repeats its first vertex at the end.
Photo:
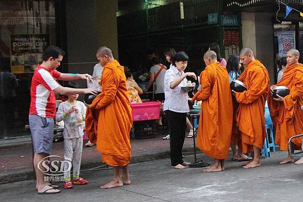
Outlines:
POLYGON ((240 51, 240 60, 246 64, 244 72, 238 78, 246 85, 246 91, 236 93, 239 103, 236 115, 241 132, 243 153, 254 152, 254 158, 243 164, 243 168, 261 166, 260 153, 266 138, 265 101, 269 92, 269 76, 265 66, 249 48, 240 51))

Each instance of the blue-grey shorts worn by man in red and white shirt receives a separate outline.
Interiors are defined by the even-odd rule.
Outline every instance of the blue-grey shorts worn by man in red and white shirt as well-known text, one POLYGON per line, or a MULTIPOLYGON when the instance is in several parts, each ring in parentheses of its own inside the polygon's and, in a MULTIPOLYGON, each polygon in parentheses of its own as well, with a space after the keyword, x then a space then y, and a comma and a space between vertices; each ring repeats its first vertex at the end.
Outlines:
POLYGON ((36 114, 28 116, 35 154, 51 154, 54 139, 54 119, 36 114))

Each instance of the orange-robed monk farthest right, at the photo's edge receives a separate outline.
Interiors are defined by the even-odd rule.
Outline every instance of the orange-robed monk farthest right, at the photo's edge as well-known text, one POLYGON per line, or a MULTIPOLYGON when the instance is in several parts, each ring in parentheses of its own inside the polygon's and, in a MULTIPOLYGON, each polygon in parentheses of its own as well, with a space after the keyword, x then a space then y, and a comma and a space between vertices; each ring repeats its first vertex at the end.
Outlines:
MULTIPOLYGON (((299 51, 290 49, 286 54, 286 70, 283 77, 274 86, 287 86, 290 90, 289 95, 284 98, 277 95, 278 98, 268 96, 268 107, 272 120, 276 126, 276 140, 280 145, 280 150, 288 151, 288 140, 297 134, 303 133, 303 64, 298 63, 299 51)), ((271 86, 271 93, 272 88, 271 86)), ((292 139, 291 149, 301 147, 302 139, 292 139)), ((294 162, 288 151, 288 157, 281 161, 280 164, 294 162)), ((303 158, 298 160, 296 164, 303 163, 303 158)))

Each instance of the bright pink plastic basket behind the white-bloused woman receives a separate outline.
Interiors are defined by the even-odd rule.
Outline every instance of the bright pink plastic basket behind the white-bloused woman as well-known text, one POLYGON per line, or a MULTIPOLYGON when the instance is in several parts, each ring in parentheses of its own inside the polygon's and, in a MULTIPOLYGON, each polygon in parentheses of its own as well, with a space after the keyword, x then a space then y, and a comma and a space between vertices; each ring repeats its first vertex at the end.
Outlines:
POLYGON ((159 119, 161 104, 161 102, 130 104, 132 108, 133 121, 159 119))

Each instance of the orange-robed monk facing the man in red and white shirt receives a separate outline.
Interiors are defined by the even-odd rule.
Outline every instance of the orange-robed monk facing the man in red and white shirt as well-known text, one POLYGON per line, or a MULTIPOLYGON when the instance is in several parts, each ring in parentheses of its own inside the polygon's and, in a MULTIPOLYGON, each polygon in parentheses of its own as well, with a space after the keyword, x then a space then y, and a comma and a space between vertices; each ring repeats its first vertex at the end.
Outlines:
MULTIPOLYGON (((96 110, 98 125, 96 149, 102 153, 102 161, 113 166, 113 181, 100 186, 112 188, 130 184, 128 164, 131 159, 129 133, 132 126, 132 113, 128 100, 124 67, 114 59, 112 50, 100 47, 96 54, 99 63, 104 66, 102 93, 89 105, 96 110), (122 176, 122 177, 121 177, 122 176)), ((94 118, 91 117, 90 120, 94 118)), ((94 124, 89 124, 94 127, 94 124)), ((91 129, 88 129, 91 133, 91 129)))

